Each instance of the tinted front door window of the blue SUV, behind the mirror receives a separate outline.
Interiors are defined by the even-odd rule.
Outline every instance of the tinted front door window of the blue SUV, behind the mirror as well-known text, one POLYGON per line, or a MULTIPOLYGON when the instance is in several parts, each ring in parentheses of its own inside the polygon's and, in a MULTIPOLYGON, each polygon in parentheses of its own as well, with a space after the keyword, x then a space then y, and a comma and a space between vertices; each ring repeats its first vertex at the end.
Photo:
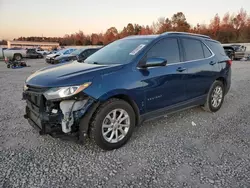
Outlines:
POLYGON ((147 53, 147 58, 161 57, 169 63, 180 62, 178 41, 175 38, 162 39, 157 42, 147 53))

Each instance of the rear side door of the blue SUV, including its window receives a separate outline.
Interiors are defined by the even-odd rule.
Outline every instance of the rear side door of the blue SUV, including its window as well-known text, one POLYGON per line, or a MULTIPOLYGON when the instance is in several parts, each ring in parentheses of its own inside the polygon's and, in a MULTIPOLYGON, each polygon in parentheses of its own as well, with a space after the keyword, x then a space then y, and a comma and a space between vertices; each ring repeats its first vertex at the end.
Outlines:
POLYGON ((218 63, 213 52, 196 38, 181 39, 187 72, 187 99, 204 96, 215 80, 218 63))

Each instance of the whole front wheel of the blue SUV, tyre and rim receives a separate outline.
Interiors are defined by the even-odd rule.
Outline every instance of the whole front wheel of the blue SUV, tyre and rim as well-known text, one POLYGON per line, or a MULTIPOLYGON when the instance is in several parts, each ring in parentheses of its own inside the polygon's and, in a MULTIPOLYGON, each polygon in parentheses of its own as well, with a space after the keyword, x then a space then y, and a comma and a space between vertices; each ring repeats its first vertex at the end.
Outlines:
POLYGON ((129 140, 134 127, 133 108, 124 100, 113 98, 96 110, 91 122, 90 137, 104 150, 118 149, 129 140))

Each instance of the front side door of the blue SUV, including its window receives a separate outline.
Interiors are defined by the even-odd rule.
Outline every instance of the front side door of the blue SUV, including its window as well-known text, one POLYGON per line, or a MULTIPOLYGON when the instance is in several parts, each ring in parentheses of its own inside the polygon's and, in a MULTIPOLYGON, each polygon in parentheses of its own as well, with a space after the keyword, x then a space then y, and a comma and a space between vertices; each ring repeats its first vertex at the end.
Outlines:
POLYGON ((159 110, 186 99, 185 73, 177 38, 158 41, 146 54, 146 59, 159 57, 167 60, 166 66, 140 69, 145 91, 146 112, 159 110))

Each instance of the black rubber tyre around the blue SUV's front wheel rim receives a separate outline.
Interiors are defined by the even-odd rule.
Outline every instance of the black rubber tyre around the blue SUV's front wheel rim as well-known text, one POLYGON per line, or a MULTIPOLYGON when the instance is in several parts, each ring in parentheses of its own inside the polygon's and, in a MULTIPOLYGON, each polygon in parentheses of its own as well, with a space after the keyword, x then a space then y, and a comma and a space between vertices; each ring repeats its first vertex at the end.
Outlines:
POLYGON ((90 138, 102 149, 112 150, 118 149, 123 146, 131 137, 133 129, 135 127, 135 112, 133 108, 124 100, 121 99, 109 99, 101 104, 93 115, 90 125, 90 138), (130 118, 130 127, 126 136, 117 143, 110 143, 105 140, 102 134, 102 123, 105 117, 114 109, 123 109, 127 112, 130 118))

